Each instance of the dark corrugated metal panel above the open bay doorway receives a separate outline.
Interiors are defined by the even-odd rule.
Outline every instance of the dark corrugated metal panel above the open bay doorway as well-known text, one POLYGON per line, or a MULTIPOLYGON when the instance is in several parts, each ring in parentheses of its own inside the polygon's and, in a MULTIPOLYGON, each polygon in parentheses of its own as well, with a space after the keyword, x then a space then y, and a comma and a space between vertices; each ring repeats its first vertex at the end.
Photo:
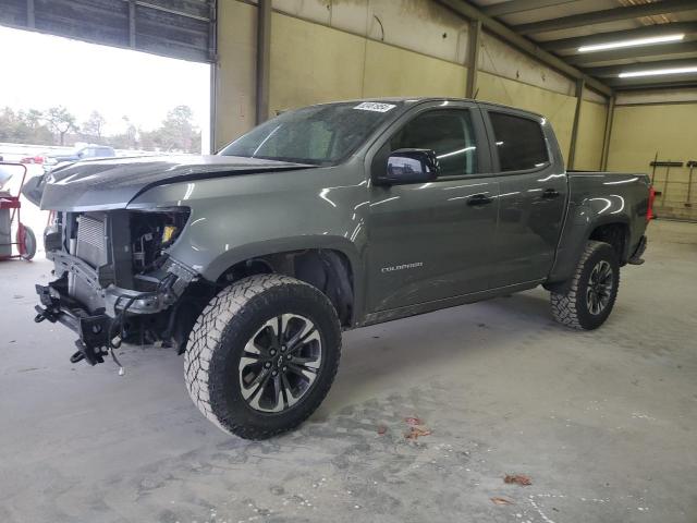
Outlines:
POLYGON ((213 62, 216 0, 0 0, 0 25, 213 62))

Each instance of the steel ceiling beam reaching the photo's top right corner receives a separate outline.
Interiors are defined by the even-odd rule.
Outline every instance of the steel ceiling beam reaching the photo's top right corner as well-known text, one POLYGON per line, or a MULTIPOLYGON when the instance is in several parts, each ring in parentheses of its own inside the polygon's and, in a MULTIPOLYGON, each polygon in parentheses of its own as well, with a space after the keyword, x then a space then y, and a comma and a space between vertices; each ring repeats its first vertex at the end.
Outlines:
POLYGON ((570 29, 587 25, 616 22, 619 20, 637 19, 640 16, 653 16, 657 14, 677 13, 695 9, 695 0, 663 0, 661 2, 641 3, 626 8, 606 9, 589 13, 573 14, 561 19, 543 20, 530 24, 514 26, 517 33, 530 35, 549 31, 570 29))

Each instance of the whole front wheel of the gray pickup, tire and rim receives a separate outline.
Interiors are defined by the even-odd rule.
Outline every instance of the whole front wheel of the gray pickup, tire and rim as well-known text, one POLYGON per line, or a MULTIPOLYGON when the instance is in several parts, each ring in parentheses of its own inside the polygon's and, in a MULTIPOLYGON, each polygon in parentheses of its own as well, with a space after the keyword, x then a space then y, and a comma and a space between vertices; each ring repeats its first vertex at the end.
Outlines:
POLYGON ((314 287, 280 275, 245 278, 199 316, 184 357, 186 387, 208 419, 247 439, 290 430, 334 379, 341 329, 314 287))

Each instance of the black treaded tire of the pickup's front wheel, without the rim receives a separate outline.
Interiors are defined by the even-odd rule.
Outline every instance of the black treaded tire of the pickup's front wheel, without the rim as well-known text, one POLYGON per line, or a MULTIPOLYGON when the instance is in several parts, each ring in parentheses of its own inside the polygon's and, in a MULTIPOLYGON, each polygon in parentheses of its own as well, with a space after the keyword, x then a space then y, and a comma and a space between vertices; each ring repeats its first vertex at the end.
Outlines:
POLYGON ((315 412, 337 375, 340 354, 341 327, 325 294, 288 276, 252 276, 218 293, 196 320, 184 355, 184 378, 194 404, 222 430, 266 439, 291 430, 315 412), (321 337, 322 360, 315 381, 296 404, 262 413, 243 399, 239 365, 247 341, 279 314, 311 319, 321 337))

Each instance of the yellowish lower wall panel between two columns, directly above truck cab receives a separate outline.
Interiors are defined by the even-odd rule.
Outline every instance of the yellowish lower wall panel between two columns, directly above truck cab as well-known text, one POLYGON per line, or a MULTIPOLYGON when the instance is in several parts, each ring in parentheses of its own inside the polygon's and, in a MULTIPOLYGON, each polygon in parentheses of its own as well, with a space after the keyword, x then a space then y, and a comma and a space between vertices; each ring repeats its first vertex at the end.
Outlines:
POLYGON ((272 26, 271 114, 341 99, 465 95, 462 65, 279 13, 272 26))

